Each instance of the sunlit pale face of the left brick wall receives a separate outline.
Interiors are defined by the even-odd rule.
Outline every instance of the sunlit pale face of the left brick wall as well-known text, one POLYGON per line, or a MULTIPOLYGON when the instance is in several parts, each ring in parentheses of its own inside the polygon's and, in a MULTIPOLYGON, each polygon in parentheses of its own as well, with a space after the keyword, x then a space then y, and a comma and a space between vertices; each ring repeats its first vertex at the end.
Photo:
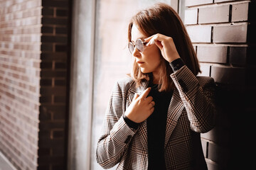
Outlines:
POLYGON ((0 1, 0 152, 17 169, 37 167, 40 47, 41 1, 0 1))

